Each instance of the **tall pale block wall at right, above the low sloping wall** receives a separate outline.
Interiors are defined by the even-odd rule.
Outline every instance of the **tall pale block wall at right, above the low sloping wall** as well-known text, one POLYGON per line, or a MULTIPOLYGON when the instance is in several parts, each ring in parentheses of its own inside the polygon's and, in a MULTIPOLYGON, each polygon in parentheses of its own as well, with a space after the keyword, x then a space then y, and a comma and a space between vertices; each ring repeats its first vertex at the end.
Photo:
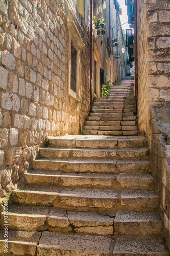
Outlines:
POLYGON ((139 130, 149 135, 149 107, 170 101, 170 1, 137 1, 139 130))

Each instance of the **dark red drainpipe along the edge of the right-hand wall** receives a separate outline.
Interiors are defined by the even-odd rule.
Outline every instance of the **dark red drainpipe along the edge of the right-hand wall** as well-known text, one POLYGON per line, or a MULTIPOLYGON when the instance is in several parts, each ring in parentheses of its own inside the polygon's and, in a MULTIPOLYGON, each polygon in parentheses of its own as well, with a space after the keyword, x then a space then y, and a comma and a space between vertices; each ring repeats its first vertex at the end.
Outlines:
POLYGON ((137 0, 134 0, 134 41, 135 41, 135 110, 137 113, 138 102, 138 47, 137 47, 137 0))

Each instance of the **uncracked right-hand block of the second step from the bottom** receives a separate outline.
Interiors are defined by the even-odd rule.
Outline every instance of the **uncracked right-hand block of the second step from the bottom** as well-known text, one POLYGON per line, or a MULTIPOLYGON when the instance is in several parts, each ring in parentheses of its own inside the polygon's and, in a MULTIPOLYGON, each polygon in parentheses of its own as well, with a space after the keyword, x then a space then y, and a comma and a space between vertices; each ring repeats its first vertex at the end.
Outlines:
POLYGON ((118 211, 114 219, 114 235, 157 236, 162 221, 157 212, 118 211))

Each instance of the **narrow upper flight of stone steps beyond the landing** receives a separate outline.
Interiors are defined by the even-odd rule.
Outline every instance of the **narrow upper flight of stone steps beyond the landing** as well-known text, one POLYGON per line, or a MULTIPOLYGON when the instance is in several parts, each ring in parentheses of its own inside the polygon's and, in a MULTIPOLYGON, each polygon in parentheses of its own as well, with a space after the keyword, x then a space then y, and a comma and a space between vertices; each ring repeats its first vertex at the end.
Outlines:
POLYGON ((118 81, 107 97, 96 97, 83 134, 137 135, 134 112, 134 81, 118 81))

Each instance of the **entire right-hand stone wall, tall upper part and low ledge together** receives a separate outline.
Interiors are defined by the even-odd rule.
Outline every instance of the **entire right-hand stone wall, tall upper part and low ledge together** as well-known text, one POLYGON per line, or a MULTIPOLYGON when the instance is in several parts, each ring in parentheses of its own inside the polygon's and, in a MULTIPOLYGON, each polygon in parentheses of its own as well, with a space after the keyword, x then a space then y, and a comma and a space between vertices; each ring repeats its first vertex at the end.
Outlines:
POLYGON ((138 128, 147 134, 151 171, 170 248, 170 1, 137 1, 138 128))

